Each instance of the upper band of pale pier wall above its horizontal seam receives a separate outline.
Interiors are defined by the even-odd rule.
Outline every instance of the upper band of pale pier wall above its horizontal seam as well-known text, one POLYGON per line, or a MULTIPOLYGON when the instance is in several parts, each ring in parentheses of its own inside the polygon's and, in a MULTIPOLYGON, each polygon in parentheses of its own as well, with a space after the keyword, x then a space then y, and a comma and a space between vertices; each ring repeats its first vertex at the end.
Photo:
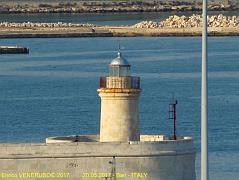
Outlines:
MULTIPOLYGON (((144 135, 145 136, 145 135, 144 135)), ((73 136, 65 138, 69 141, 73 136)), ((148 157, 194 154, 192 139, 134 142, 93 142, 97 135, 82 136, 87 142, 0 144, 0 159, 71 157, 148 157)), ((50 138, 48 138, 49 140, 50 138)), ((57 138, 51 138, 57 139, 57 138)), ((62 138, 60 138, 62 139, 62 138)))

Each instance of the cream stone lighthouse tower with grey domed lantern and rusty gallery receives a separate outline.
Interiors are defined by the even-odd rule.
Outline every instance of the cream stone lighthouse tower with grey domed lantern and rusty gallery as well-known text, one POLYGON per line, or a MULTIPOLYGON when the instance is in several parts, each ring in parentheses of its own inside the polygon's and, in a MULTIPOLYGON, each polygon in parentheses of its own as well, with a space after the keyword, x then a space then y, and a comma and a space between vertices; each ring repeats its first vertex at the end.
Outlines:
POLYGON ((100 142, 139 141, 140 78, 130 75, 130 64, 120 50, 100 78, 100 142))

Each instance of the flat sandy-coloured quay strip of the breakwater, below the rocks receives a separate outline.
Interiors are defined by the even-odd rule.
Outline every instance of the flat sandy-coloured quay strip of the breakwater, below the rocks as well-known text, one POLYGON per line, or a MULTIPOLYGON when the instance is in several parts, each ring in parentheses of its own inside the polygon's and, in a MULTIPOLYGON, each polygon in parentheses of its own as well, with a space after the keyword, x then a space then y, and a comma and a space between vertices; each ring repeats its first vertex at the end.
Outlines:
MULTIPOLYGON (((0 38, 66 38, 66 37, 168 37, 168 36, 201 36, 202 28, 132 28, 129 26, 103 26, 97 27, 96 32, 82 28, 0 28, 0 38)), ((238 27, 208 28, 209 36, 239 36, 238 27)))

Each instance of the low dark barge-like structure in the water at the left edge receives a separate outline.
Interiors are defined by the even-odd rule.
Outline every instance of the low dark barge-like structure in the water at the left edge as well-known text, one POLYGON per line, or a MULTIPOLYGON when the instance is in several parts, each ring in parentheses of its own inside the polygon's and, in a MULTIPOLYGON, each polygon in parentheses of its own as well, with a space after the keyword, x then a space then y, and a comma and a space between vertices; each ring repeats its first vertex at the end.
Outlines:
POLYGON ((20 46, 0 46, 0 54, 29 54, 29 49, 20 46))

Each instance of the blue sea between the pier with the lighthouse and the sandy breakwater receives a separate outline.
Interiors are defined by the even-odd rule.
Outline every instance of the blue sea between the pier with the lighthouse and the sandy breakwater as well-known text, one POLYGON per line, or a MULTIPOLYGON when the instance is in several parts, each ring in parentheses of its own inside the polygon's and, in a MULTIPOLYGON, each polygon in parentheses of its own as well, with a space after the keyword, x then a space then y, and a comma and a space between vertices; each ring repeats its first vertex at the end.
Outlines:
MULTIPOLYGON (((2 39, 29 55, 0 55, 0 142, 99 132, 99 77, 118 41, 141 77, 141 133, 193 136, 200 176, 201 39, 197 37, 2 39)), ((209 161, 215 180, 239 179, 239 37, 209 38, 209 161)))

